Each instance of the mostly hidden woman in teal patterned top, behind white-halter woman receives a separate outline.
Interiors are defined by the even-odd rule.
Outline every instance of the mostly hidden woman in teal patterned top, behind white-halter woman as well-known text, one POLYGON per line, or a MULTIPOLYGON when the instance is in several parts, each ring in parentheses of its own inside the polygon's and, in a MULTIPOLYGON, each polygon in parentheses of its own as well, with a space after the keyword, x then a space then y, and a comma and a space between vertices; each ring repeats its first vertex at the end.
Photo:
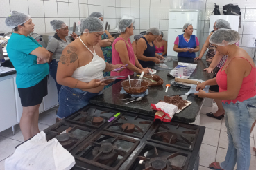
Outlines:
MULTIPOLYGON (((89 17, 96 17, 101 19, 103 21, 103 15, 101 12, 92 12, 89 17)), ((108 30, 105 30, 104 34, 101 35, 101 40, 99 41, 99 45, 101 46, 101 50, 103 51, 105 62, 108 62, 109 64, 112 64, 112 43, 114 42, 114 37, 110 35, 108 30)), ((110 76, 110 72, 104 72, 104 77, 110 76)), ((108 84, 108 86, 105 86, 105 88, 108 88, 112 86, 114 82, 111 84, 108 84)))

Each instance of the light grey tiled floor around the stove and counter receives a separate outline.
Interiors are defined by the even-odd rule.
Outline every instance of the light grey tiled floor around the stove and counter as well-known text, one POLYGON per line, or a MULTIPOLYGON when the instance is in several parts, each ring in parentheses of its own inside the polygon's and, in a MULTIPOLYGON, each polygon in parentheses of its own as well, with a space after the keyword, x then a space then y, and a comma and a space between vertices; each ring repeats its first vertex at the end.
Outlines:
MULTIPOLYGON (((205 126, 205 136, 203 138, 203 144, 200 148, 200 167, 199 170, 207 170, 208 165, 211 162, 222 162, 225 159, 225 154, 228 149, 228 137, 226 133, 225 121, 215 120, 207 117, 205 113, 216 111, 216 106, 205 107, 200 111, 200 125, 205 126)), ((44 113, 40 113, 39 129, 43 131, 47 127, 54 124, 56 121, 56 108, 53 108, 44 113)), ((4 170, 4 162, 15 151, 15 147, 23 142, 22 132, 19 126, 15 127, 15 135, 12 135, 12 129, 7 129, 0 133, 0 170, 4 170)), ((250 135, 250 147, 251 147, 251 161, 250 170, 254 170, 256 167, 256 153, 253 151, 253 147, 256 147, 256 126, 253 129, 253 133, 250 135)))

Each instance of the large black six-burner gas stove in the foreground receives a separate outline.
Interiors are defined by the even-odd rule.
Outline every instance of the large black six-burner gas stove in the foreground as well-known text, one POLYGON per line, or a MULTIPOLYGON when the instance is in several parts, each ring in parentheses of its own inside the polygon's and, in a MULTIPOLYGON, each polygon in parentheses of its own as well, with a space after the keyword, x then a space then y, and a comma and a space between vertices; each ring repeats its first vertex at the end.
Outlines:
POLYGON ((44 132, 74 156, 73 170, 194 170, 205 127, 89 104, 44 132))

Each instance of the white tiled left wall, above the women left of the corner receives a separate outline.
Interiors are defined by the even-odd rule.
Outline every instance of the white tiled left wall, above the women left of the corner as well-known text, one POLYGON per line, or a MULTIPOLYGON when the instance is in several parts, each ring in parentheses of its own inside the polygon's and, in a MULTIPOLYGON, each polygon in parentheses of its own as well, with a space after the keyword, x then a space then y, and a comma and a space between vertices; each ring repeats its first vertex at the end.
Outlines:
POLYGON ((113 29, 121 19, 121 0, 1 0, 0 31, 11 31, 4 21, 12 10, 31 15, 36 33, 53 32, 50 26, 53 19, 73 26, 74 21, 88 17, 95 11, 101 12, 104 22, 108 21, 113 29))

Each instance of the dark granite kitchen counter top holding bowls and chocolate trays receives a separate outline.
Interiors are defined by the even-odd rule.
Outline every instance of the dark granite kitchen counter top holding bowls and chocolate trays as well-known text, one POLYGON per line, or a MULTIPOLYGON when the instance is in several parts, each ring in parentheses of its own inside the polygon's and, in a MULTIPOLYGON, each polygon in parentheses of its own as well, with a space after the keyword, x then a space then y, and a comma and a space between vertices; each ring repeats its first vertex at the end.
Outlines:
MULTIPOLYGON (((167 62, 164 64, 167 64, 168 66, 171 66, 171 68, 174 68, 178 65, 178 62, 198 64, 196 70, 194 70, 194 73, 191 75, 191 79, 207 80, 211 79, 213 76, 212 73, 209 74, 203 71, 203 69, 207 68, 210 64, 207 63, 205 59, 194 61, 194 59, 188 59, 185 57, 173 57, 173 60, 171 62, 167 62)), ((186 88, 171 86, 168 89, 168 92, 165 93, 165 85, 170 84, 171 80, 174 79, 173 77, 167 76, 170 71, 171 70, 157 70, 156 75, 159 75, 164 80, 164 84, 162 86, 149 86, 149 94, 143 97, 143 99, 139 102, 135 101, 130 104, 124 104, 126 102, 129 102, 130 100, 119 101, 119 99, 130 97, 130 95, 124 95, 119 93, 121 91, 121 82, 118 82, 117 84, 114 84, 113 86, 105 89, 103 95, 93 97, 90 102, 92 104, 119 108, 126 111, 139 112, 141 114, 154 117, 155 111, 150 108, 151 103, 157 104, 159 100, 164 100, 164 95, 180 95, 185 94, 187 93, 187 91, 189 91, 189 89, 186 88)), ((189 95, 187 100, 191 101, 192 104, 180 113, 175 114, 173 120, 187 123, 192 123, 196 120, 196 116, 198 115, 200 108, 203 104, 203 99, 197 97, 194 94, 191 94, 189 95)))

